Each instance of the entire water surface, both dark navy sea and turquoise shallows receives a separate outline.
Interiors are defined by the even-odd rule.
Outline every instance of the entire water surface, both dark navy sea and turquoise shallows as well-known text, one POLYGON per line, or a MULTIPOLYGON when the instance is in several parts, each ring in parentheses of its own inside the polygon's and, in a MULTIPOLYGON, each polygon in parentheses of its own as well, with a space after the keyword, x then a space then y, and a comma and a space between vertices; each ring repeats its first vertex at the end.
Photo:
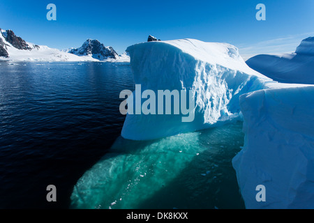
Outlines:
POLYGON ((244 208, 241 122, 123 139, 124 89, 128 63, 0 62, 0 208, 244 208))

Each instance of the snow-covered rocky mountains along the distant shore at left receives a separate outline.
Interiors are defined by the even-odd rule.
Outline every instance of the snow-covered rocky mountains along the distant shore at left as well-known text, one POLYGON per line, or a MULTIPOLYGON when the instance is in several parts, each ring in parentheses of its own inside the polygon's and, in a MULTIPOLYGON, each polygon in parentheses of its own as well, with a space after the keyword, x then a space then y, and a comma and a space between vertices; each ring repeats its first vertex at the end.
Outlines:
MULTIPOLYGON (((95 44, 97 45, 97 43, 95 44)), ((13 31, 0 29, 0 61, 130 61, 130 57, 126 53, 118 56, 112 47, 102 48, 102 44, 99 44, 99 48, 95 45, 91 46, 87 45, 86 54, 83 51, 80 51, 82 54, 80 52, 73 54, 45 45, 28 43, 16 36, 13 31), (91 49, 91 53, 89 53, 89 49, 91 49), (98 52, 98 54, 93 54, 93 52, 98 52), (107 58, 105 58, 105 55, 107 55, 107 58)), ((82 49, 82 47, 79 49, 82 49)))

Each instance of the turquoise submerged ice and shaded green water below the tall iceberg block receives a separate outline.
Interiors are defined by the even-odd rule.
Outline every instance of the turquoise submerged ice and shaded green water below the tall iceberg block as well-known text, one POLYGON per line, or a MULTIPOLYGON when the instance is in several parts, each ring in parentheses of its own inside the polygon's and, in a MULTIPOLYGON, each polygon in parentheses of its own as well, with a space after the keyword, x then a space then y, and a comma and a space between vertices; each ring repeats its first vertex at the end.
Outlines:
POLYGON ((119 137, 73 188, 71 208, 244 208, 231 160, 242 123, 153 141, 119 137))

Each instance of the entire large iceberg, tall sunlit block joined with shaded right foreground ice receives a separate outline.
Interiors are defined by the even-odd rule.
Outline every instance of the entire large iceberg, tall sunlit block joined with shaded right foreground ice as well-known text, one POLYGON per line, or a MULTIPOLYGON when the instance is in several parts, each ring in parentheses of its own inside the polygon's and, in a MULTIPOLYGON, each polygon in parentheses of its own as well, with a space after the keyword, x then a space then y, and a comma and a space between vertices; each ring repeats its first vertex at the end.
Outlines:
POLYGON ((142 91, 193 91, 195 118, 127 114, 122 137, 156 139, 243 118, 245 144, 232 164, 246 208, 314 208, 314 85, 275 82, 225 43, 170 40, 127 51, 142 91), (266 201, 255 199, 257 185, 266 201))

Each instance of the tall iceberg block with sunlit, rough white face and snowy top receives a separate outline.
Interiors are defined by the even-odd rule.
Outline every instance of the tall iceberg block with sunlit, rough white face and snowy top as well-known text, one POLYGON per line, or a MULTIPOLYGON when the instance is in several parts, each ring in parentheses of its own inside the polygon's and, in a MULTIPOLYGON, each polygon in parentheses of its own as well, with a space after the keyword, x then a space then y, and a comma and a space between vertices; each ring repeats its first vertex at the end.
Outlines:
POLYGON ((126 51, 142 91, 185 90, 195 98, 192 122, 184 123, 176 114, 127 114, 121 132, 126 139, 156 139, 237 118, 239 95, 274 83, 249 68, 238 49, 227 43, 170 40, 139 43, 126 51))

